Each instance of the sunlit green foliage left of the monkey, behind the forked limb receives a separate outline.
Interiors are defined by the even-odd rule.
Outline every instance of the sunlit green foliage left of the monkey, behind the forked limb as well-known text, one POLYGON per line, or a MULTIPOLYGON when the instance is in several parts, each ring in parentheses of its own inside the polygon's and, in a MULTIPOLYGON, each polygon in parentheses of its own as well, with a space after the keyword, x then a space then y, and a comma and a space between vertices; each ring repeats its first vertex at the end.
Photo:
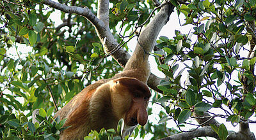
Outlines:
MULTIPOLYGON (((97 13, 97 1, 59 3, 87 7, 97 13)), ((110 5, 109 27, 120 43, 124 43, 122 36, 127 32, 129 38, 134 36, 134 24, 145 22, 154 8, 152 1, 111 1, 110 5), (116 26, 118 22, 122 23, 120 27, 116 26)), ((95 28, 86 18, 56 11, 41 0, 4 0, 0 6, 0 136, 58 139, 64 122, 52 119, 56 112, 53 102, 62 108, 84 87, 111 78, 122 67, 105 54, 95 28), (53 17, 56 14, 60 20, 53 17), (31 114, 37 108, 41 108, 40 123, 34 125, 31 114)), ((126 44, 124 48, 129 50, 126 44)), ((155 127, 150 124, 145 129, 136 128, 132 136, 145 137, 145 131, 152 133, 151 126, 155 127)), ((99 133, 92 131, 86 139, 121 139, 121 132, 102 129, 99 133)), ((163 137, 160 133, 159 129, 163 137)))

